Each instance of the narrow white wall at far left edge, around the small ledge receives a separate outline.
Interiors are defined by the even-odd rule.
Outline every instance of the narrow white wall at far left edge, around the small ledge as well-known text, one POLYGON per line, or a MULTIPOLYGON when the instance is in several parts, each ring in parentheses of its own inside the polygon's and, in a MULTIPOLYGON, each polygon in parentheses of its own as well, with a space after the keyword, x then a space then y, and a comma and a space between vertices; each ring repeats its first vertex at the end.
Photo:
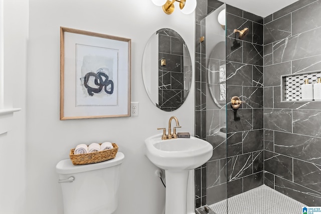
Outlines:
POLYGON ((0 213, 6 214, 25 212, 28 8, 26 0, 4 1, 4 107, 22 108, 0 135, 0 213))

